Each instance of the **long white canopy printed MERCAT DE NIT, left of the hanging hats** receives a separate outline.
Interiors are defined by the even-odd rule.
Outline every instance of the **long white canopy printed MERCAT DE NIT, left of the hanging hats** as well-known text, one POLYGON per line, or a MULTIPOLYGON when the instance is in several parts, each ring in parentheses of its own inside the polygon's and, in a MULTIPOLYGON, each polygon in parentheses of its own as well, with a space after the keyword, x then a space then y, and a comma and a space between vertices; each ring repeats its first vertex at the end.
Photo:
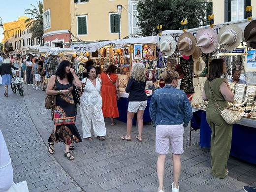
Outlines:
POLYGON ((75 44, 72 45, 72 50, 74 52, 96 52, 102 47, 112 45, 115 48, 123 47, 126 44, 157 44, 157 36, 146 36, 138 38, 128 38, 128 39, 117 39, 102 41, 96 43, 87 43, 87 44, 75 44))

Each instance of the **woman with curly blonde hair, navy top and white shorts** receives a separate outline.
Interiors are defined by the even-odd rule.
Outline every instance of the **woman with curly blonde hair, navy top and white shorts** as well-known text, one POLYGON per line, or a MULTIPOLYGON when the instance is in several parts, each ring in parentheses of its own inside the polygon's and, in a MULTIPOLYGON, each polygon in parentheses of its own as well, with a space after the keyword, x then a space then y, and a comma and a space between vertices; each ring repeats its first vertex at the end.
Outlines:
POLYGON ((126 93, 128 96, 128 112, 127 112, 127 134, 122 136, 122 140, 130 141, 132 119, 134 114, 137 113, 138 123, 138 136, 136 139, 142 141, 142 130, 143 130, 143 113, 147 107, 147 95, 145 92, 146 88, 146 68, 144 64, 137 63, 133 64, 130 72, 130 78, 126 87, 126 93))

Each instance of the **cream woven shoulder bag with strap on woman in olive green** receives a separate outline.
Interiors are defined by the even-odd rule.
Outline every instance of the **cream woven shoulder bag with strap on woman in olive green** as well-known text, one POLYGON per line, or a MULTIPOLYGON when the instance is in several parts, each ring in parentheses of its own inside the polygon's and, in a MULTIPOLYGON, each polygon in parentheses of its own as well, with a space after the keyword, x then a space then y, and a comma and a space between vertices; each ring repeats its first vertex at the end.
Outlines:
MULTIPOLYGON (((213 95, 210 81, 209 81, 209 85, 210 85, 211 93, 213 95)), ((220 115, 222 116, 222 118, 224 119, 224 121, 227 124, 233 125, 233 124, 238 123, 241 120, 241 116, 240 116, 237 106, 230 105, 230 106, 225 107, 224 110, 221 111, 214 95, 213 95, 213 98, 216 102, 216 105, 217 105, 220 115)))

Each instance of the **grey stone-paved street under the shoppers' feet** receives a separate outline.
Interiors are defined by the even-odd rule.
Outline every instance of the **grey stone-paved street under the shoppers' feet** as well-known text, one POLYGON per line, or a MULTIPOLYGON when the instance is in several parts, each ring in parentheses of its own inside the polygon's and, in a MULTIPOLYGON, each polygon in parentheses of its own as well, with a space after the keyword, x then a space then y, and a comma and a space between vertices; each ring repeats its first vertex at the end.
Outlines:
MULTIPOLYGON (((46 141, 53 128, 50 111, 44 108, 45 92, 25 85, 24 97, 3 96, 0 86, 0 128, 5 137, 14 169, 14 181, 27 180, 30 192, 157 192, 155 130, 145 126, 143 142, 120 139, 126 124, 116 121, 110 126, 106 119, 105 141, 83 139, 75 144, 75 160, 64 158, 64 144, 55 144, 55 154, 48 154, 46 141), (6 102, 7 101, 7 102, 6 102)), ((76 126, 82 135, 78 109, 76 126)), ((180 178, 180 192, 243 192, 244 185, 256 185, 256 165, 229 158, 229 175, 225 179, 210 174, 210 152, 199 146, 199 134, 189 129, 184 134, 184 154, 180 178)), ((171 192, 173 182, 172 159, 166 157, 164 187, 171 192)))

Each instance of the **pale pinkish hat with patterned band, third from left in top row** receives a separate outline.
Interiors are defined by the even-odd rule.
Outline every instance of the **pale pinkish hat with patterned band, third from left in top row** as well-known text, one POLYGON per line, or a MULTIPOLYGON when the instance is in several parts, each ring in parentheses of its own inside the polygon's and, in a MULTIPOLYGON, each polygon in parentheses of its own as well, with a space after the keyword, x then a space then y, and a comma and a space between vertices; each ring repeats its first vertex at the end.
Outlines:
POLYGON ((204 28, 199 30, 195 35, 196 46, 200 47, 203 53, 211 53, 218 47, 218 34, 210 28, 204 28))

